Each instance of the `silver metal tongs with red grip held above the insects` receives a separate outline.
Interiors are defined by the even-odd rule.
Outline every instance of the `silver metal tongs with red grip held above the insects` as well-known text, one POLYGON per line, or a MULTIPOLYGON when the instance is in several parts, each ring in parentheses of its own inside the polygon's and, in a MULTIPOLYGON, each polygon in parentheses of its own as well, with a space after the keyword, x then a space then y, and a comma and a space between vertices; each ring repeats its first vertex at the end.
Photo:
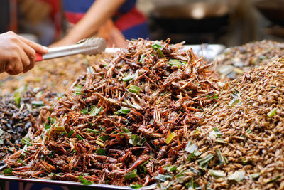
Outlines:
POLYGON ((72 56, 78 53, 82 53, 84 55, 95 55, 102 53, 106 47, 107 42, 104 38, 88 38, 79 41, 74 45, 49 48, 48 53, 45 54, 36 53, 35 61, 72 56))

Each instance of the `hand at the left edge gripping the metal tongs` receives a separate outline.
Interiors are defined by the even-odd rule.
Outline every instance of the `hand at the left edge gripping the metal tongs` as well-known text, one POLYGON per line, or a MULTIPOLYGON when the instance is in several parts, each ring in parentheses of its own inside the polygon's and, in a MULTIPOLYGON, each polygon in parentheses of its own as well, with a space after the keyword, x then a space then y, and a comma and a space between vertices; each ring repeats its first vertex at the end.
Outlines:
POLYGON ((44 54, 48 48, 11 31, 0 34, 0 73, 26 73, 35 65, 35 52, 44 54))

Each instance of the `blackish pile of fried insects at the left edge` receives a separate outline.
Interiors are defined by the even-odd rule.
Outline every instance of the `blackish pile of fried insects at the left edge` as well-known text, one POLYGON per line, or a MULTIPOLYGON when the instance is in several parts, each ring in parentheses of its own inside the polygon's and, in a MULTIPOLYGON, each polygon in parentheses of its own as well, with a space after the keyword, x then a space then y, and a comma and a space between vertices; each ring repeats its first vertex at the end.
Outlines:
POLYGON ((0 161, 7 154, 23 148, 22 137, 26 136, 29 127, 36 125, 40 108, 52 97, 55 94, 39 88, 0 97, 0 161))

